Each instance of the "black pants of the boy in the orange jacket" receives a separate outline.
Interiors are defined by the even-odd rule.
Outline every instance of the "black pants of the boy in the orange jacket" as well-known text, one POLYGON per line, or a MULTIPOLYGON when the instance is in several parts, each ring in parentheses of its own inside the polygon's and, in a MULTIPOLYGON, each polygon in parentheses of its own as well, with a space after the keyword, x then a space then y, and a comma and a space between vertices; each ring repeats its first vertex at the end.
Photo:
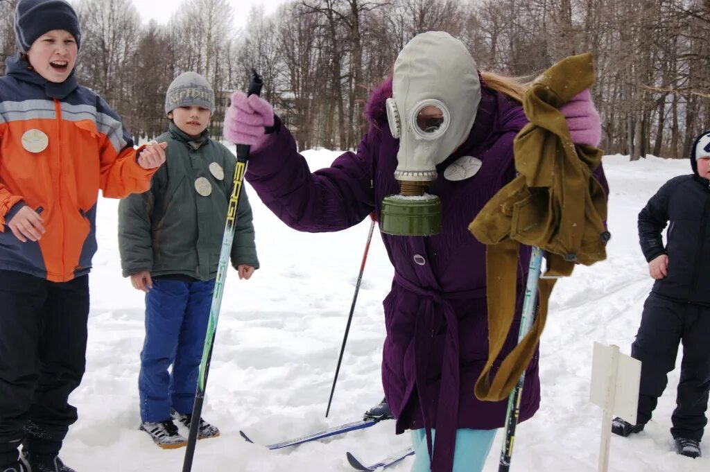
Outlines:
POLYGON ((88 275, 57 283, 0 270, 0 466, 20 443, 61 449, 77 420, 67 399, 84 375, 88 316, 88 275))

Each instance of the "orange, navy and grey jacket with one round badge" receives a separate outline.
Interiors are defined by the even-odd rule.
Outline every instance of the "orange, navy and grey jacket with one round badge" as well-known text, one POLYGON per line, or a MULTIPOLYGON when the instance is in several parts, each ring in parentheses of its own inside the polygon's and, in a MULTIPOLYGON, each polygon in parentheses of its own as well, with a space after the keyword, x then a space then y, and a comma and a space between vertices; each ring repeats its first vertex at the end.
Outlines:
POLYGON ((18 56, 0 77, 0 269, 65 282, 96 252, 96 203, 145 192, 155 170, 136 163, 121 119, 72 74, 47 82, 18 56), (22 243, 8 222, 28 205, 44 219, 39 241, 22 243))

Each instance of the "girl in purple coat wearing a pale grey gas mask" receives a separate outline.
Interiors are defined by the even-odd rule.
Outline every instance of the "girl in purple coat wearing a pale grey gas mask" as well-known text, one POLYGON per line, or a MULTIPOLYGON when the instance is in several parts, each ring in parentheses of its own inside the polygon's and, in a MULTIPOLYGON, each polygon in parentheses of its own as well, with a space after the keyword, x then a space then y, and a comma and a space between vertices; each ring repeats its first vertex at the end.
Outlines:
MULTIPOLYGON (((382 382, 397 433, 411 430, 413 471, 480 471, 505 421, 507 402, 481 402, 473 393, 488 356, 486 246, 467 226, 515 177, 513 138, 528 123, 524 90, 511 79, 479 75, 461 41, 427 32, 405 45, 392 79, 372 94, 371 126, 358 150, 329 168, 310 172, 272 106, 255 95, 236 92, 225 117, 226 138, 251 145, 246 179, 294 229, 339 231, 373 211, 387 216, 383 199, 400 187, 426 185, 413 199, 441 202, 438 234, 382 235, 395 268, 383 302, 382 382), (275 131, 265 134, 270 126, 275 131)), ((589 91, 562 112, 575 143, 598 143, 589 91)), ((517 322, 501 358, 517 341, 529 259, 524 248, 517 322)), ((539 406, 537 373, 536 355, 525 373, 521 421, 539 406)))

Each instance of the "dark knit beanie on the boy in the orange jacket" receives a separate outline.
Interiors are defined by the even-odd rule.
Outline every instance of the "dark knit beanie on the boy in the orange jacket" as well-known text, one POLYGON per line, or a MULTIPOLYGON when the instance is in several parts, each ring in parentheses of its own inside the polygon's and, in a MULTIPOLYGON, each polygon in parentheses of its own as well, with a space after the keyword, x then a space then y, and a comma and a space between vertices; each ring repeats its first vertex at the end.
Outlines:
POLYGON ((15 9, 15 39, 21 53, 27 53, 32 43, 52 30, 69 31, 81 44, 79 18, 65 0, 20 0, 15 9))

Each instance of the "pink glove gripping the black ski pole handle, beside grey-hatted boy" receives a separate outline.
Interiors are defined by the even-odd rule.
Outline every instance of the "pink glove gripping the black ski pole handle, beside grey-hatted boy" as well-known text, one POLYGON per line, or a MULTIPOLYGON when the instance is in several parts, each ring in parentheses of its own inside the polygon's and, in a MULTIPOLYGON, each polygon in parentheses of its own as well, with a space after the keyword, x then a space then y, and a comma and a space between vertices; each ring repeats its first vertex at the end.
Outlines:
POLYGON ((224 114, 224 137, 231 143, 258 146, 266 141, 265 126, 273 126, 273 106, 258 95, 234 92, 224 114))

